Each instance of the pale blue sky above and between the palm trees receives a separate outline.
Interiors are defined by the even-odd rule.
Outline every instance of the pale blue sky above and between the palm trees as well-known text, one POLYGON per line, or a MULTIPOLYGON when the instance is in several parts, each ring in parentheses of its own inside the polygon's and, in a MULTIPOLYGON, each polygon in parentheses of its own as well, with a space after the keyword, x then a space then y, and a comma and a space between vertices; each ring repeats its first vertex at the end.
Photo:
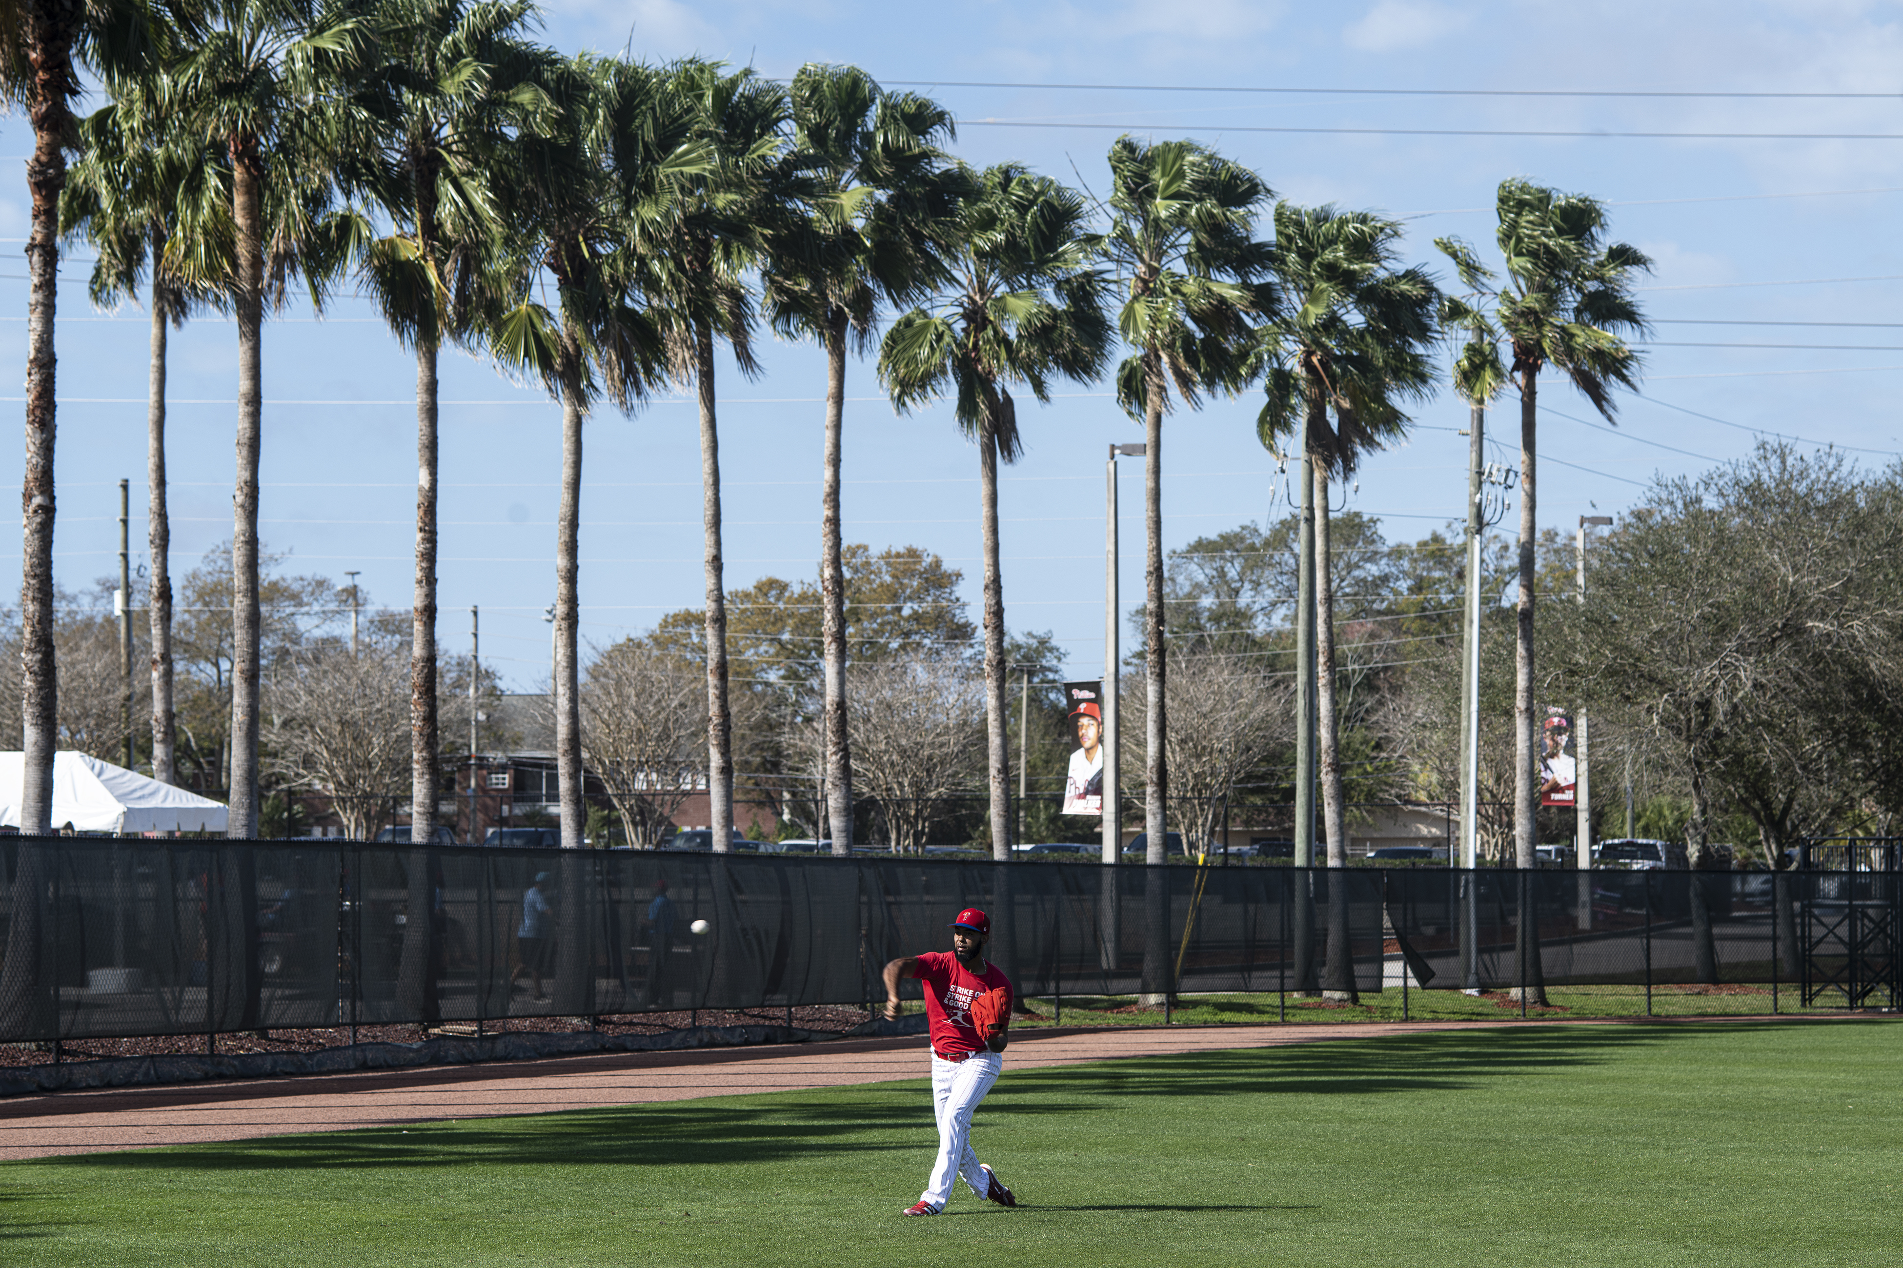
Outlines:
MULTIPOLYGON (((1612 203, 1614 234, 1658 262, 1644 285, 1659 321, 1642 399, 1616 432, 1557 384, 1541 394, 1540 523, 1618 515, 1654 473, 1749 452, 1755 430, 1903 451, 1897 293, 1903 247, 1903 6, 1897 4, 636 4, 546 8, 548 42, 649 59, 685 53, 792 74, 807 61, 866 67, 931 91, 961 120, 972 163, 1022 160, 1098 194, 1119 129, 1187 135, 1248 163, 1279 196, 1408 219, 1410 255, 1442 276, 1431 240, 1492 247, 1492 192, 1530 177, 1612 203), (1136 87, 959 87, 955 84, 1136 87), (1433 97, 1224 93, 1195 87, 1591 89, 1600 93, 1892 93, 1873 99, 1433 97), (1090 127, 1085 127, 1085 125, 1090 127), (1370 129, 1304 133, 1246 129, 1370 129), (1397 131, 1406 129, 1406 131, 1397 131), (1812 139, 1448 135, 1473 131, 1806 133, 1812 139), (1777 323, 1777 325, 1753 325, 1777 323), (1787 325, 1874 323, 1874 325, 1787 325), (1705 346, 1720 344, 1720 346, 1705 346), (1760 346, 1745 346, 1760 344, 1760 346), (1762 344, 1806 344, 1804 348, 1762 344), (1669 407, 1678 407, 1669 409, 1669 407), (1697 418, 1680 411, 1709 414, 1697 418), (1730 426, 1726 426, 1730 424, 1730 426), (1570 466, 1564 466, 1570 464, 1570 466)), ((30 148, 0 120, 0 156, 30 148)), ((19 171, 19 167, 13 167, 19 171)), ((0 188, 0 249, 27 230, 23 183, 0 188)), ((59 327, 57 576, 89 586, 116 568, 116 485, 133 481, 145 542, 147 323, 93 312, 89 253, 65 264, 59 327)), ((21 382, 25 268, 0 270, 0 355, 21 382), (6 316, 11 308, 13 316, 6 316)), ((230 534, 234 331, 204 321, 171 340, 173 568, 230 534)), ((291 570, 362 570, 377 605, 407 606, 415 500, 413 361, 358 300, 325 321, 291 310, 265 333, 266 544, 291 570)), ((755 382, 727 375, 723 473, 727 580, 811 576, 818 553, 820 395, 814 348, 769 344, 755 382)), ((976 451, 948 409, 898 418, 872 369, 849 369, 847 540, 917 544, 978 587, 976 451)), ((17 397, 13 409, 19 409, 17 397)), ((483 608, 483 652, 516 688, 546 679, 542 608, 554 597, 558 409, 483 361, 443 365, 441 624, 466 648, 483 608)), ((1283 513, 1273 462, 1254 439, 1256 401, 1216 401, 1165 424, 1168 546, 1283 513)), ((15 414, 17 416, 17 414, 15 414)), ((1511 439, 1517 403, 1494 411, 1511 439)), ((1047 629, 1075 673, 1102 663, 1102 454, 1140 439, 1102 384, 1064 388, 1020 414, 1030 452, 1003 483, 1005 601, 1012 629, 1047 629)), ((1349 498, 1389 540, 1456 519, 1465 489, 1465 407, 1450 394, 1412 439, 1364 464, 1349 498)), ((0 481, 19 483, 19 447, 0 481)), ((1496 449, 1517 460, 1517 449, 1496 449)), ((1140 597, 1140 470, 1125 464, 1127 601, 1140 597)), ((693 407, 655 403, 588 428, 582 498, 582 633, 605 644, 700 601, 700 485, 693 407)), ((1509 521, 1511 525, 1511 521, 1509 521)), ((19 586, 0 557, 0 593, 19 586)))

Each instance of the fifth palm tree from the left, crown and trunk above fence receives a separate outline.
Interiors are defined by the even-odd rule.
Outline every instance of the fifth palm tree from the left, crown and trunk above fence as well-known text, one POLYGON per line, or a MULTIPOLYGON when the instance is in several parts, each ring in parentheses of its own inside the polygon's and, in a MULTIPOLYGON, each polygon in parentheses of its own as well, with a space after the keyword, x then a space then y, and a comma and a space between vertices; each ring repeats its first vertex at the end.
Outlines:
POLYGON ((518 139, 504 190, 520 298, 497 319, 491 346, 561 401, 552 694, 561 844, 580 848, 588 823, 577 696, 582 424, 599 397, 632 409, 666 376, 666 333, 641 304, 638 243, 679 219, 689 183, 710 160, 691 108, 660 70, 580 55, 550 67, 544 91, 556 122, 518 139), (544 278, 554 310, 531 295, 544 278))

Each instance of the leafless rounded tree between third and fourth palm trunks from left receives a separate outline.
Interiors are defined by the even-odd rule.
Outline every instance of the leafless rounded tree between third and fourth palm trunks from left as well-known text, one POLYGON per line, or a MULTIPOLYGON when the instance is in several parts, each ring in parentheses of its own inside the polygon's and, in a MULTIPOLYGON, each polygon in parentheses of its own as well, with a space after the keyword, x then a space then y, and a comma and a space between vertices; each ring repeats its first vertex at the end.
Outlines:
POLYGON ((327 793, 344 835, 369 838, 409 776, 409 658, 324 643, 278 667, 268 703, 270 774, 327 793))

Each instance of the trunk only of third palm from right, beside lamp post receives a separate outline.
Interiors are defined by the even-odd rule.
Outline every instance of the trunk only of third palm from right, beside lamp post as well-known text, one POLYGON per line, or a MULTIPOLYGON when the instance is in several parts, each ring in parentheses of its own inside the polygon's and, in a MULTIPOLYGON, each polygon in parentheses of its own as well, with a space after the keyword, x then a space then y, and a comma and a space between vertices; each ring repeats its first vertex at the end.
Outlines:
POLYGON ((1151 352, 1144 355, 1144 766, 1148 789, 1144 795, 1144 973, 1138 1006, 1159 1008, 1168 998, 1170 962, 1170 895, 1163 852, 1168 808, 1168 762, 1163 745, 1168 740, 1168 715, 1163 692, 1163 361, 1151 352))

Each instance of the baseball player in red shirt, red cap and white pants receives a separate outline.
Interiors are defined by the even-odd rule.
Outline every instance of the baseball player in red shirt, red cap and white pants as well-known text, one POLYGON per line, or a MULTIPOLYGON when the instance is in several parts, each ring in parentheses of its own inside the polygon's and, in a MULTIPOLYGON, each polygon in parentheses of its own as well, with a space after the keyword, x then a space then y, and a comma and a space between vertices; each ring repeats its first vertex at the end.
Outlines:
POLYGON ((938 1118, 938 1162, 932 1179, 906 1215, 938 1215, 957 1179, 971 1192, 1014 1207, 1018 1200, 971 1148, 971 1116, 1003 1070, 1010 1025, 1010 981, 984 958, 991 918, 967 907, 952 922, 952 951, 900 956, 885 966, 885 1017, 898 1019, 898 979, 925 983, 932 1023, 932 1108, 938 1118))

